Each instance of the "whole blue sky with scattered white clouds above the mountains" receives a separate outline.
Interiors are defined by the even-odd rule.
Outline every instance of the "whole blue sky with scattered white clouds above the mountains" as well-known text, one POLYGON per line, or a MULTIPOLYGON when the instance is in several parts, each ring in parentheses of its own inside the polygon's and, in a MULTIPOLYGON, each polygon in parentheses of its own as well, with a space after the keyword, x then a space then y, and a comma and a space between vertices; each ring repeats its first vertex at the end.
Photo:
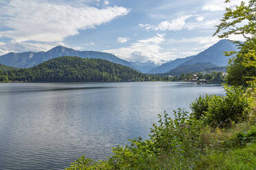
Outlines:
POLYGON ((224 0, 0 0, 0 55, 63 45, 159 64, 217 42, 225 8, 224 0))

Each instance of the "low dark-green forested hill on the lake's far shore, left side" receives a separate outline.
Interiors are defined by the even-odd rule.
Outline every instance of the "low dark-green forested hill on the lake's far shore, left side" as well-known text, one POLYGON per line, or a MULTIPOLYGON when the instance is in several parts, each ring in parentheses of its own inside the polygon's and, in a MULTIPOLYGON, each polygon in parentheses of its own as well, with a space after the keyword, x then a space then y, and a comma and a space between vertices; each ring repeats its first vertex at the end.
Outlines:
POLYGON ((28 69, 9 71, 12 81, 24 82, 120 82, 145 81, 148 75, 128 66, 101 59, 63 56, 28 69))

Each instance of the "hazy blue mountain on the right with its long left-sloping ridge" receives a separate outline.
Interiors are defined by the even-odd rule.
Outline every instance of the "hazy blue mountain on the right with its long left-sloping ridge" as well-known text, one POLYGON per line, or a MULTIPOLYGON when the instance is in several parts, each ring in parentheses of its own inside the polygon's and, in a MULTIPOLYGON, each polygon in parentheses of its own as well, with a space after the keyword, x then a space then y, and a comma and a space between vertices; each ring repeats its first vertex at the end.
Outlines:
POLYGON ((178 58, 173 62, 167 62, 152 69, 148 73, 167 73, 178 66, 189 66, 195 63, 211 62, 216 66, 226 66, 229 58, 232 56, 224 56, 224 51, 236 51, 237 47, 230 40, 220 40, 215 45, 198 53, 198 55, 187 58, 178 58))

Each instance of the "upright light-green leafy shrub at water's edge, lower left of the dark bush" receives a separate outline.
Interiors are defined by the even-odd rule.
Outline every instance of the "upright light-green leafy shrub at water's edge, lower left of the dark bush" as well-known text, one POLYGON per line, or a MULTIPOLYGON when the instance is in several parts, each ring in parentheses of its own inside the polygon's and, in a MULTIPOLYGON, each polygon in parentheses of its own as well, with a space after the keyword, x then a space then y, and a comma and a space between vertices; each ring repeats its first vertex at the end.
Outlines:
POLYGON ((173 113, 174 119, 166 113, 163 117, 159 115, 159 125, 153 125, 150 140, 158 155, 169 156, 170 169, 191 169, 193 165, 188 162, 200 158, 204 147, 204 124, 190 119, 184 110, 173 113))

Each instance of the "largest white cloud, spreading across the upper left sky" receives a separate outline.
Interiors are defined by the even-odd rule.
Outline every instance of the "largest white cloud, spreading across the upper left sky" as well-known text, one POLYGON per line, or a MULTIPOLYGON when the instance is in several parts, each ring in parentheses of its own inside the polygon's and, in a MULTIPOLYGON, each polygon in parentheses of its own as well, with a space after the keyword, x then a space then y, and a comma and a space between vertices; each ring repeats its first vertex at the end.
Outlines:
POLYGON ((0 24, 11 28, 1 31, 0 36, 20 42, 58 42, 78 34, 79 29, 94 28, 127 13, 129 9, 117 6, 98 9, 39 0, 12 0, 0 6, 0 24))

